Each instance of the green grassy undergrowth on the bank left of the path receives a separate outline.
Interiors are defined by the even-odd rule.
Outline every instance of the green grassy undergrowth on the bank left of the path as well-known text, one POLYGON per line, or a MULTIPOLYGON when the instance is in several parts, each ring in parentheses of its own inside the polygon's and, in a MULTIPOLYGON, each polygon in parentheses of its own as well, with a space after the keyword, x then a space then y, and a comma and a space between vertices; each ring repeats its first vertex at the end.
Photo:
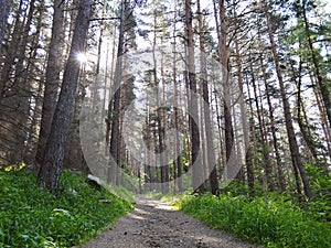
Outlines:
POLYGON ((32 173, 0 171, 0 247, 72 247, 132 209, 106 190, 92 188, 76 173, 63 172, 58 196, 35 181, 32 173))

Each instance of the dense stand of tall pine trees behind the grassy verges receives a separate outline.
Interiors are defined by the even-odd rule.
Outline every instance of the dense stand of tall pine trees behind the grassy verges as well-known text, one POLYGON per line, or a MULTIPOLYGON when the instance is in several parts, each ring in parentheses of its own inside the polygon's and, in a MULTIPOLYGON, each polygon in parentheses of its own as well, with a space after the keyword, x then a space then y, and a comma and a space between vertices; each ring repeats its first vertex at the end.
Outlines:
POLYGON ((104 180, 121 185, 126 172, 140 191, 217 194, 236 179, 252 194, 312 197, 309 170, 331 164, 328 11, 310 0, 1 1, 0 163, 30 164, 51 191, 63 168, 87 172, 95 157, 104 180), (141 123, 128 123, 134 103, 141 123), (85 131, 102 134, 84 158, 85 108, 100 114, 85 131), (136 125, 143 142, 128 143, 136 125))

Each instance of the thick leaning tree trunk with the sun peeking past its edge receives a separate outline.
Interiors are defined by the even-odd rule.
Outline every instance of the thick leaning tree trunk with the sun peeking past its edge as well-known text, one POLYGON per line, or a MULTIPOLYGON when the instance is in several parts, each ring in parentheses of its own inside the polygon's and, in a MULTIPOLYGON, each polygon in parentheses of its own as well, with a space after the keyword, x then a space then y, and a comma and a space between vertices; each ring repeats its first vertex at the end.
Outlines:
POLYGON ((43 163, 38 175, 39 184, 51 192, 57 191, 63 170, 64 143, 72 120, 73 104, 81 68, 81 64, 76 60, 76 54, 84 51, 92 14, 90 6, 92 0, 81 0, 79 2, 72 47, 64 71, 61 93, 43 155, 43 163))

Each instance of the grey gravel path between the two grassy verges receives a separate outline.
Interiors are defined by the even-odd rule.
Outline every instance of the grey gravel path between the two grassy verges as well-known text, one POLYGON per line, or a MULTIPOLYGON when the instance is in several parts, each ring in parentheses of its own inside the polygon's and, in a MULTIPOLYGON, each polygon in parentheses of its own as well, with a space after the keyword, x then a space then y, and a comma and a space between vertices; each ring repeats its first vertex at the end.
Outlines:
POLYGON ((214 230, 167 203, 139 195, 136 208, 115 227, 82 248, 253 248, 231 235, 214 230))

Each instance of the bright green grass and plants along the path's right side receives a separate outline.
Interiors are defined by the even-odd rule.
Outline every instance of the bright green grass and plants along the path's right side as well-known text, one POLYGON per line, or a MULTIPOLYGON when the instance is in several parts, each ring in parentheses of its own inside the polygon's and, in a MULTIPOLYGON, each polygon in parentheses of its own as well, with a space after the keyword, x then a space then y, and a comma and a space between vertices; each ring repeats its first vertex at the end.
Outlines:
POLYGON ((259 196, 184 196, 178 202, 184 213, 215 229, 266 247, 331 247, 331 224, 309 218, 288 198, 259 196))

